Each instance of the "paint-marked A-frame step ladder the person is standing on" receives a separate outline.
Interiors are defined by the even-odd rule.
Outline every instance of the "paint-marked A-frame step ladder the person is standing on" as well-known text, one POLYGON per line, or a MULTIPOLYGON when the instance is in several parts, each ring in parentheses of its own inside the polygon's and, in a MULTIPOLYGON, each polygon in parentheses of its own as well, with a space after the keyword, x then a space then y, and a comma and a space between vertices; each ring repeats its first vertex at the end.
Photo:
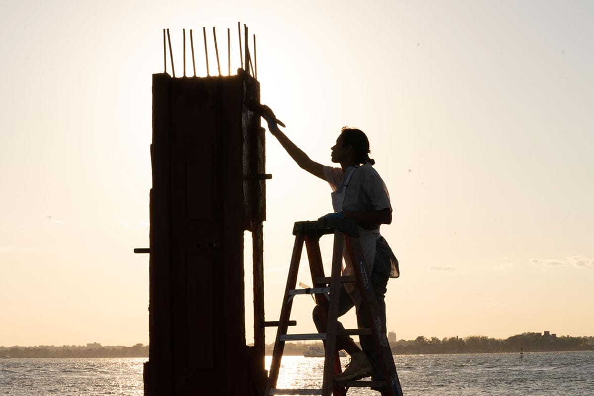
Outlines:
MULTIPOLYGON (((287 284, 285 296, 283 297, 283 306, 280 311, 280 319, 276 340, 274 342, 274 351, 272 362, 268 373, 265 395, 323 395, 345 396, 350 387, 373 387, 381 388, 384 395, 403 396, 402 387, 394 366, 390 345, 386 338, 386 333, 381 325, 380 311, 375 300, 375 294, 372 290, 372 284, 368 281, 368 274, 365 271, 364 258, 359 242, 359 230, 357 224, 351 219, 330 218, 317 221, 297 221, 293 226, 293 235, 295 243, 289 265, 289 274, 287 275, 287 284), (324 277, 324 267, 320 252, 320 237, 326 234, 334 234, 334 247, 332 253, 332 266, 330 277, 324 277), (342 270, 342 252, 343 241, 346 241, 347 252, 353 263, 355 270, 354 276, 341 276, 342 270), (305 243, 307 255, 309 258, 309 269, 314 286, 305 289, 295 289, 297 274, 299 271, 299 262, 305 243), (356 282, 361 293, 362 304, 368 306, 368 323, 374 324, 371 328, 358 328, 345 330, 347 335, 371 334, 375 347, 380 356, 380 366, 386 381, 334 381, 334 375, 341 372, 339 355, 336 350, 337 336, 337 315, 338 315, 338 296, 340 292, 340 283, 356 282), (328 296, 327 293, 330 293, 328 296), (314 334, 287 334, 289 326, 289 316, 293 297, 297 294, 314 294, 317 301, 329 297, 329 302, 320 305, 320 314, 327 314, 326 332, 314 334), (327 311, 327 312, 324 312, 327 311), (280 360, 282 359, 285 341, 292 340, 323 340, 324 355, 324 373, 321 389, 279 389, 276 388, 276 382, 279 378, 280 360)), ((342 335, 342 334, 340 334, 342 335)))

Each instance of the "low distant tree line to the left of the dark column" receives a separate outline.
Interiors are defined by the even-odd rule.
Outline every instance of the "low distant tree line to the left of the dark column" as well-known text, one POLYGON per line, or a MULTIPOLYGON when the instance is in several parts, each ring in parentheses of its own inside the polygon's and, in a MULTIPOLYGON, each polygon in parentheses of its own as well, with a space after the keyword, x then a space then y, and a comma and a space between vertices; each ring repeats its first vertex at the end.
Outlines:
POLYGON ((2 357, 149 357, 149 346, 134 344, 131 347, 119 348, 86 348, 77 346, 64 347, 0 347, 0 358, 2 357))

